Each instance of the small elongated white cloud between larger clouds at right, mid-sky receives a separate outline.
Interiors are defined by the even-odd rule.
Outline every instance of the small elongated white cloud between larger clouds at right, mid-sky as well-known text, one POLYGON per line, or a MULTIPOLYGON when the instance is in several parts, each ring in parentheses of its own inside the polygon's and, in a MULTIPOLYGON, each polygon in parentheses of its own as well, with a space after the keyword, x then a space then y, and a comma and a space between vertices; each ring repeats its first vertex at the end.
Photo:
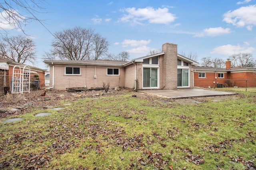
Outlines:
POLYGON ((215 28, 206 28, 203 32, 198 33, 195 35, 195 37, 216 37, 218 35, 222 34, 228 34, 231 33, 230 28, 222 28, 222 27, 215 27, 215 28))

